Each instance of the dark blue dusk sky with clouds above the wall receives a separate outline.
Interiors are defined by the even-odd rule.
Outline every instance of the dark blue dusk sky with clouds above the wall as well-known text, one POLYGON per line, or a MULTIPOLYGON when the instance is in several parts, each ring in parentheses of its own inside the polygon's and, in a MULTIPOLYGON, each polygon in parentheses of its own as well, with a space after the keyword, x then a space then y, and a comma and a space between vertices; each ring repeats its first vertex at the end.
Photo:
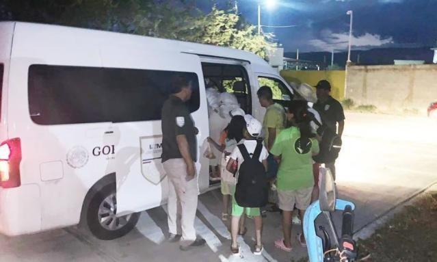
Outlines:
MULTIPOLYGON (((198 1, 203 10, 208 4, 198 1)), ((224 2, 224 1, 218 1, 224 2)), ((237 1, 239 12, 257 24, 256 0, 237 1)), ((263 1, 261 1, 263 3, 263 1)), ((437 0, 276 0, 261 8, 261 25, 296 25, 273 31, 284 51, 345 51, 347 10, 354 11, 353 49, 430 47, 437 41, 437 0)))

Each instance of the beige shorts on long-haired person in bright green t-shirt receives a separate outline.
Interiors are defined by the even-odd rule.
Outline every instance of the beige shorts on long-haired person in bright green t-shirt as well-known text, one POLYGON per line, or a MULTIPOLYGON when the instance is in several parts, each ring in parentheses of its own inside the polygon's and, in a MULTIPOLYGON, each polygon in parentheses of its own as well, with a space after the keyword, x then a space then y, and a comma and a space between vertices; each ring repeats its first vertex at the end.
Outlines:
POLYGON ((296 205, 297 209, 305 210, 311 203, 311 194, 313 187, 296 189, 296 190, 278 190, 279 208, 283 211, 293 211, 296 205))

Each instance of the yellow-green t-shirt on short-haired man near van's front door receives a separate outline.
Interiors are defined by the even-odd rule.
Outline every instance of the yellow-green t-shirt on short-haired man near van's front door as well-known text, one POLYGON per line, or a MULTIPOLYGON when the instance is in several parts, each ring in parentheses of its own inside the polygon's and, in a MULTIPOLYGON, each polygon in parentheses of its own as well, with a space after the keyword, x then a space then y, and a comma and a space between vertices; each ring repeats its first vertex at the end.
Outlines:
POLYGON ((276 129, 276 136, 284 129, 285 126, 285 109, 282 105, 274 103, 267 107, 263 120, 264 144, 267 146, 269 141, 269 128, 276 129))

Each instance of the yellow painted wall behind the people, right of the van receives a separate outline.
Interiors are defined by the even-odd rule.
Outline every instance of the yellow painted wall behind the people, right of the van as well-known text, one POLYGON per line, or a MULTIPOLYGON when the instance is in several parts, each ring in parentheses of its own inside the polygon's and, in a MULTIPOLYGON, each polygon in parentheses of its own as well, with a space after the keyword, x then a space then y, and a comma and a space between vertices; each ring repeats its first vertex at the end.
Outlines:
POLYGON ((326 71, 295 71, 282 70, 280 75, 287 82, 308 83, 315 86, 318 81, 326 79, 330 81, 332 90, 331 95, 339 101, 345 97, 345 71, 344 70, 326 70, 326 71))

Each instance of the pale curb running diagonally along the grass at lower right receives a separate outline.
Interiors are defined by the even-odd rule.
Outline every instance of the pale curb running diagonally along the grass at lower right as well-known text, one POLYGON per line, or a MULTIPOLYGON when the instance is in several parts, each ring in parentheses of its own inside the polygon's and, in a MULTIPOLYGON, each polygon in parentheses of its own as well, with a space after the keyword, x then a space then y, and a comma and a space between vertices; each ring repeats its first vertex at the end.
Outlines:
POLYGON ((402 200, 401 202, 398 202, 393 207, 390 207, 390 209, 388 209, 387 211, 384 211, 384 213, 378 215, 378 217, 376 217, 375 220, 372 220, 371 222, 365 224, 361 228, 358 228, 358 230, 354 232, 354 240, 357 241, 358 239, 367 239, 368 237, 370 237, 375 232, 376 229, 386 224, 386 222, 390 218, 392 218, 393 215, 395 215, 395 213, 401 211, 403 207, 409 205, 411 202, 413 202, 413 200, 415 200, 415 198, 427 192, 427 190, 434 185, 437 185, 437 181, 434 181, 433 183, 427 185, 423 189, 420 189, 419 191, 415 192, 408 198, 402 200))

